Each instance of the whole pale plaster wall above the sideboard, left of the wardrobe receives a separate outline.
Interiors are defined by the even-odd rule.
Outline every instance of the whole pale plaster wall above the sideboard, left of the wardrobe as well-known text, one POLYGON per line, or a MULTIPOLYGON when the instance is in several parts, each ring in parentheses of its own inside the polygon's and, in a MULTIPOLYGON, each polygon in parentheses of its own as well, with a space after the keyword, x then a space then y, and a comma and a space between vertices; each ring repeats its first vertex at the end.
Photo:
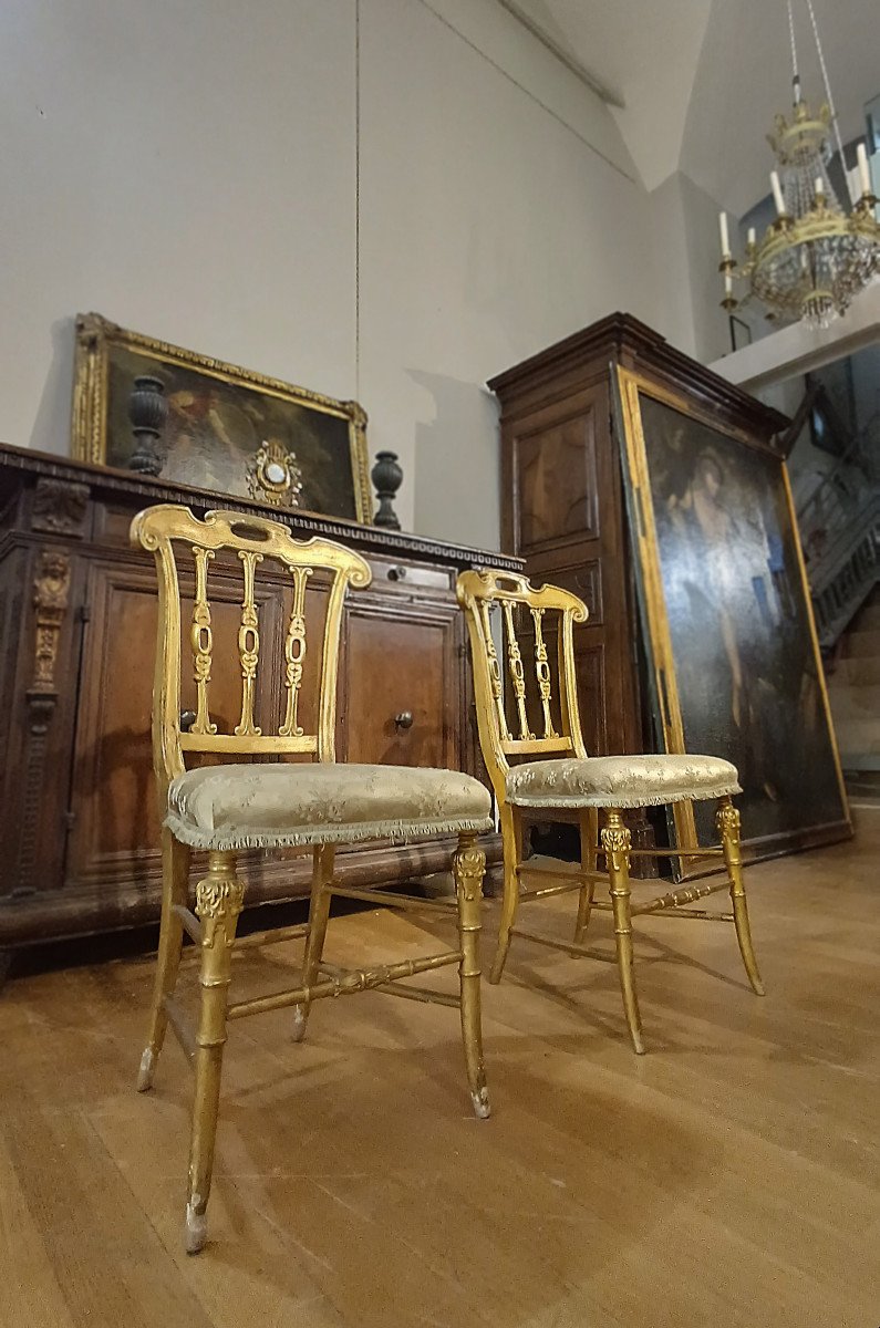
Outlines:
POLYGON ((607 109, 495 0, 356 17, 7 0, 0 438, 68 450, 73 316, 97 309, 358 394, 404 527, 497 546, 483 384, 615 308, 663 331, 647 195, 607 109))

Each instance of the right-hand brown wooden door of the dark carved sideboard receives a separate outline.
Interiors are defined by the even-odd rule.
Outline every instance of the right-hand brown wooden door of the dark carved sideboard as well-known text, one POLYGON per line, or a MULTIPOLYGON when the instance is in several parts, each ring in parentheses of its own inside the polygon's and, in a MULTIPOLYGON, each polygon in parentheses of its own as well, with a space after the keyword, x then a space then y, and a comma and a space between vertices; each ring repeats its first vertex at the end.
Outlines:
POLYGON ((344 760, 467 769, 459 618, 448 602, 352 596, 339 696, 344 760))

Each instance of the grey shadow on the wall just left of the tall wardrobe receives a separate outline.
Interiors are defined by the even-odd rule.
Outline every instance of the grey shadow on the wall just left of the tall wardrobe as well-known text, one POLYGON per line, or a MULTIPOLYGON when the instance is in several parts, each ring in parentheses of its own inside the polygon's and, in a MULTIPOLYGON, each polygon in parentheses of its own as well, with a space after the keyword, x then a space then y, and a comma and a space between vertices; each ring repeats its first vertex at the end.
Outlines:
POLYGON ((460 544, 500 548, 498 406, 484 386, 407 369, 435 402, 416 422, 415 529, 460 544))

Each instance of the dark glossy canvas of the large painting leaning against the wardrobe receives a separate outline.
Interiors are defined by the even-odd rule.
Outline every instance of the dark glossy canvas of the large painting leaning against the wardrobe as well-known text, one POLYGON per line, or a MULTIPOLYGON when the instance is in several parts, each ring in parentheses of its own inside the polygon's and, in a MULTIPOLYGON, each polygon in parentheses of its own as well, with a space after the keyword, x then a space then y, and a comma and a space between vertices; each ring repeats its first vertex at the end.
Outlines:
MULTIPOLYGON (((783 462, 639 408, 686 749, 738 768, 746 841, 845 823, 783 462)), ((714 806, 694 814, 713 842, 714 806)))

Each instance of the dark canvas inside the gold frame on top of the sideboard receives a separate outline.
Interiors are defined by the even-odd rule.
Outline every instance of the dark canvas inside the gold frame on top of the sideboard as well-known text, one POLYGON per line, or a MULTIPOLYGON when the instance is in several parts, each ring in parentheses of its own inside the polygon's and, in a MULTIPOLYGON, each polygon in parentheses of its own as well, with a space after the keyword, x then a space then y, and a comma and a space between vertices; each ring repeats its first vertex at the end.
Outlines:
POLYGON ((169 416, 161 442, 164 479, 247 498, 249 469, 257 452, 276 442, 295 458, 302 481, 299 509, 359 518, 352 425, 347 417, 112 341, 106 465, 126 467, 134 450, 128 404, 137 374, 165 382, 169 416))

